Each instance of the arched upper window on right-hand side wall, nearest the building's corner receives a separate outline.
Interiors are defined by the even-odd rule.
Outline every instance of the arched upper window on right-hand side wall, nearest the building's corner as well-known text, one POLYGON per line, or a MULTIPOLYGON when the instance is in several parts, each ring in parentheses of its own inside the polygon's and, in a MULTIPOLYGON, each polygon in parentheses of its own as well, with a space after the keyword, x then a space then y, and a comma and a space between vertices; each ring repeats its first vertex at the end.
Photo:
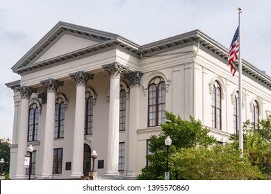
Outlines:
POLYGON ((221 130, 221 87, 217 81, 213 83, 212 125, 214 128, 221 130))

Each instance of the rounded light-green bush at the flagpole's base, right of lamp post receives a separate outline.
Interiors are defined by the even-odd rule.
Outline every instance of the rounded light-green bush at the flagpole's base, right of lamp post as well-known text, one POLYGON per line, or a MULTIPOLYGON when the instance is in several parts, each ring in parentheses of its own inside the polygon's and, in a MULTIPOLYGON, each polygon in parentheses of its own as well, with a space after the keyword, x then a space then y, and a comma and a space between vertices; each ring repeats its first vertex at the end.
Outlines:
POLYGON ((240 157, 240 150, 233 145, 181 148, 170 157, 170 169, 174 179, 266 179, 257 166, 240 157))

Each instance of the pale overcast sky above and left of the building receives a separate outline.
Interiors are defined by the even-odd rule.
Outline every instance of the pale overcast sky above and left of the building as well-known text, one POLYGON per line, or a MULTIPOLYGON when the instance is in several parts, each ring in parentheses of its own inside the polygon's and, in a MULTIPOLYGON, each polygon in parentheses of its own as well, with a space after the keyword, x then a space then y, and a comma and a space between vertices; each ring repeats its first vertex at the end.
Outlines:
POLYGON ((0 137, 13 134, 11 67, 58 21, 147 44, 199 29, 229 48, 242 14, 242 55, 271 76, 270 0, 0 0, 0 137))

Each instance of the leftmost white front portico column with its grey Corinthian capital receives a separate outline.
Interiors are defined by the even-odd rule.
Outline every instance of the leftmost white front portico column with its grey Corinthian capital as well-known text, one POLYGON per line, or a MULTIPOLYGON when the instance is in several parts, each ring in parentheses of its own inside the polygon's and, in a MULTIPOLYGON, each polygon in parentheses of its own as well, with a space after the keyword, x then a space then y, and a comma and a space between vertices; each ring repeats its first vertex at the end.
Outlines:
POLYGON ((17 169, 15 179, 24 179, 26 170, 24 169, 24 155, 27 149, 27 131, 28 131, 28 112, 29 98, 32 93, 36 93, 37 89, 28 86, 17 87, 15 89, 21 94, 21 112, 19 118, 19 139, 17 152, 17 169))

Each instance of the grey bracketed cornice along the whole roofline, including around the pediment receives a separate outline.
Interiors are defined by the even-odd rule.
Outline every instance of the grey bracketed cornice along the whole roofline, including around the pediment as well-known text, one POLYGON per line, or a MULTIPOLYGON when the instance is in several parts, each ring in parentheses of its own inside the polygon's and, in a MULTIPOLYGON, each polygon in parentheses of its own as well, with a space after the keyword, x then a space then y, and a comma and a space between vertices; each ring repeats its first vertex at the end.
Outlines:
MULTIPOLYGON (((18 74, 26 73, 34 69, 47 67, 51 64, 63 64, 65 62, 85 58, 90 55, 95 55, 97 53, 116 48, 122 48, 123 51, 126 51, 137 58, 146 58, 180 48, 181 46, 192 45, 190 43, 197 43, 204 46, 210 52, 215 53, 215 55, 218 55, 220 58, 224 59, 225 64, 227 64, 228 48, 225 48, 222 46, 222 44, 202 33, 200 30, 192 30, 188 33, 168 37, 157 42, 151 42, 149 44, 140 46, 117 34, 107 33, 101 30, 95 30, 60 21, 12 67, 12 70, 18 74), (46 51, 51 44, 54 44, 54 42, 56 42, 56 40, 62 37, 65 33, 80 36, 85 39, 92 39, 98 43, 67 53, 65 55, 60 55, 49 60, 35 63, 35 58, 42 52, 46 51)), ((243 71, 263 82, 263 84, 267 85, 268 87, 271 87, 270 76, 263 73, 263 71, 260 71, 245 60, 243 60, 243 71)))

